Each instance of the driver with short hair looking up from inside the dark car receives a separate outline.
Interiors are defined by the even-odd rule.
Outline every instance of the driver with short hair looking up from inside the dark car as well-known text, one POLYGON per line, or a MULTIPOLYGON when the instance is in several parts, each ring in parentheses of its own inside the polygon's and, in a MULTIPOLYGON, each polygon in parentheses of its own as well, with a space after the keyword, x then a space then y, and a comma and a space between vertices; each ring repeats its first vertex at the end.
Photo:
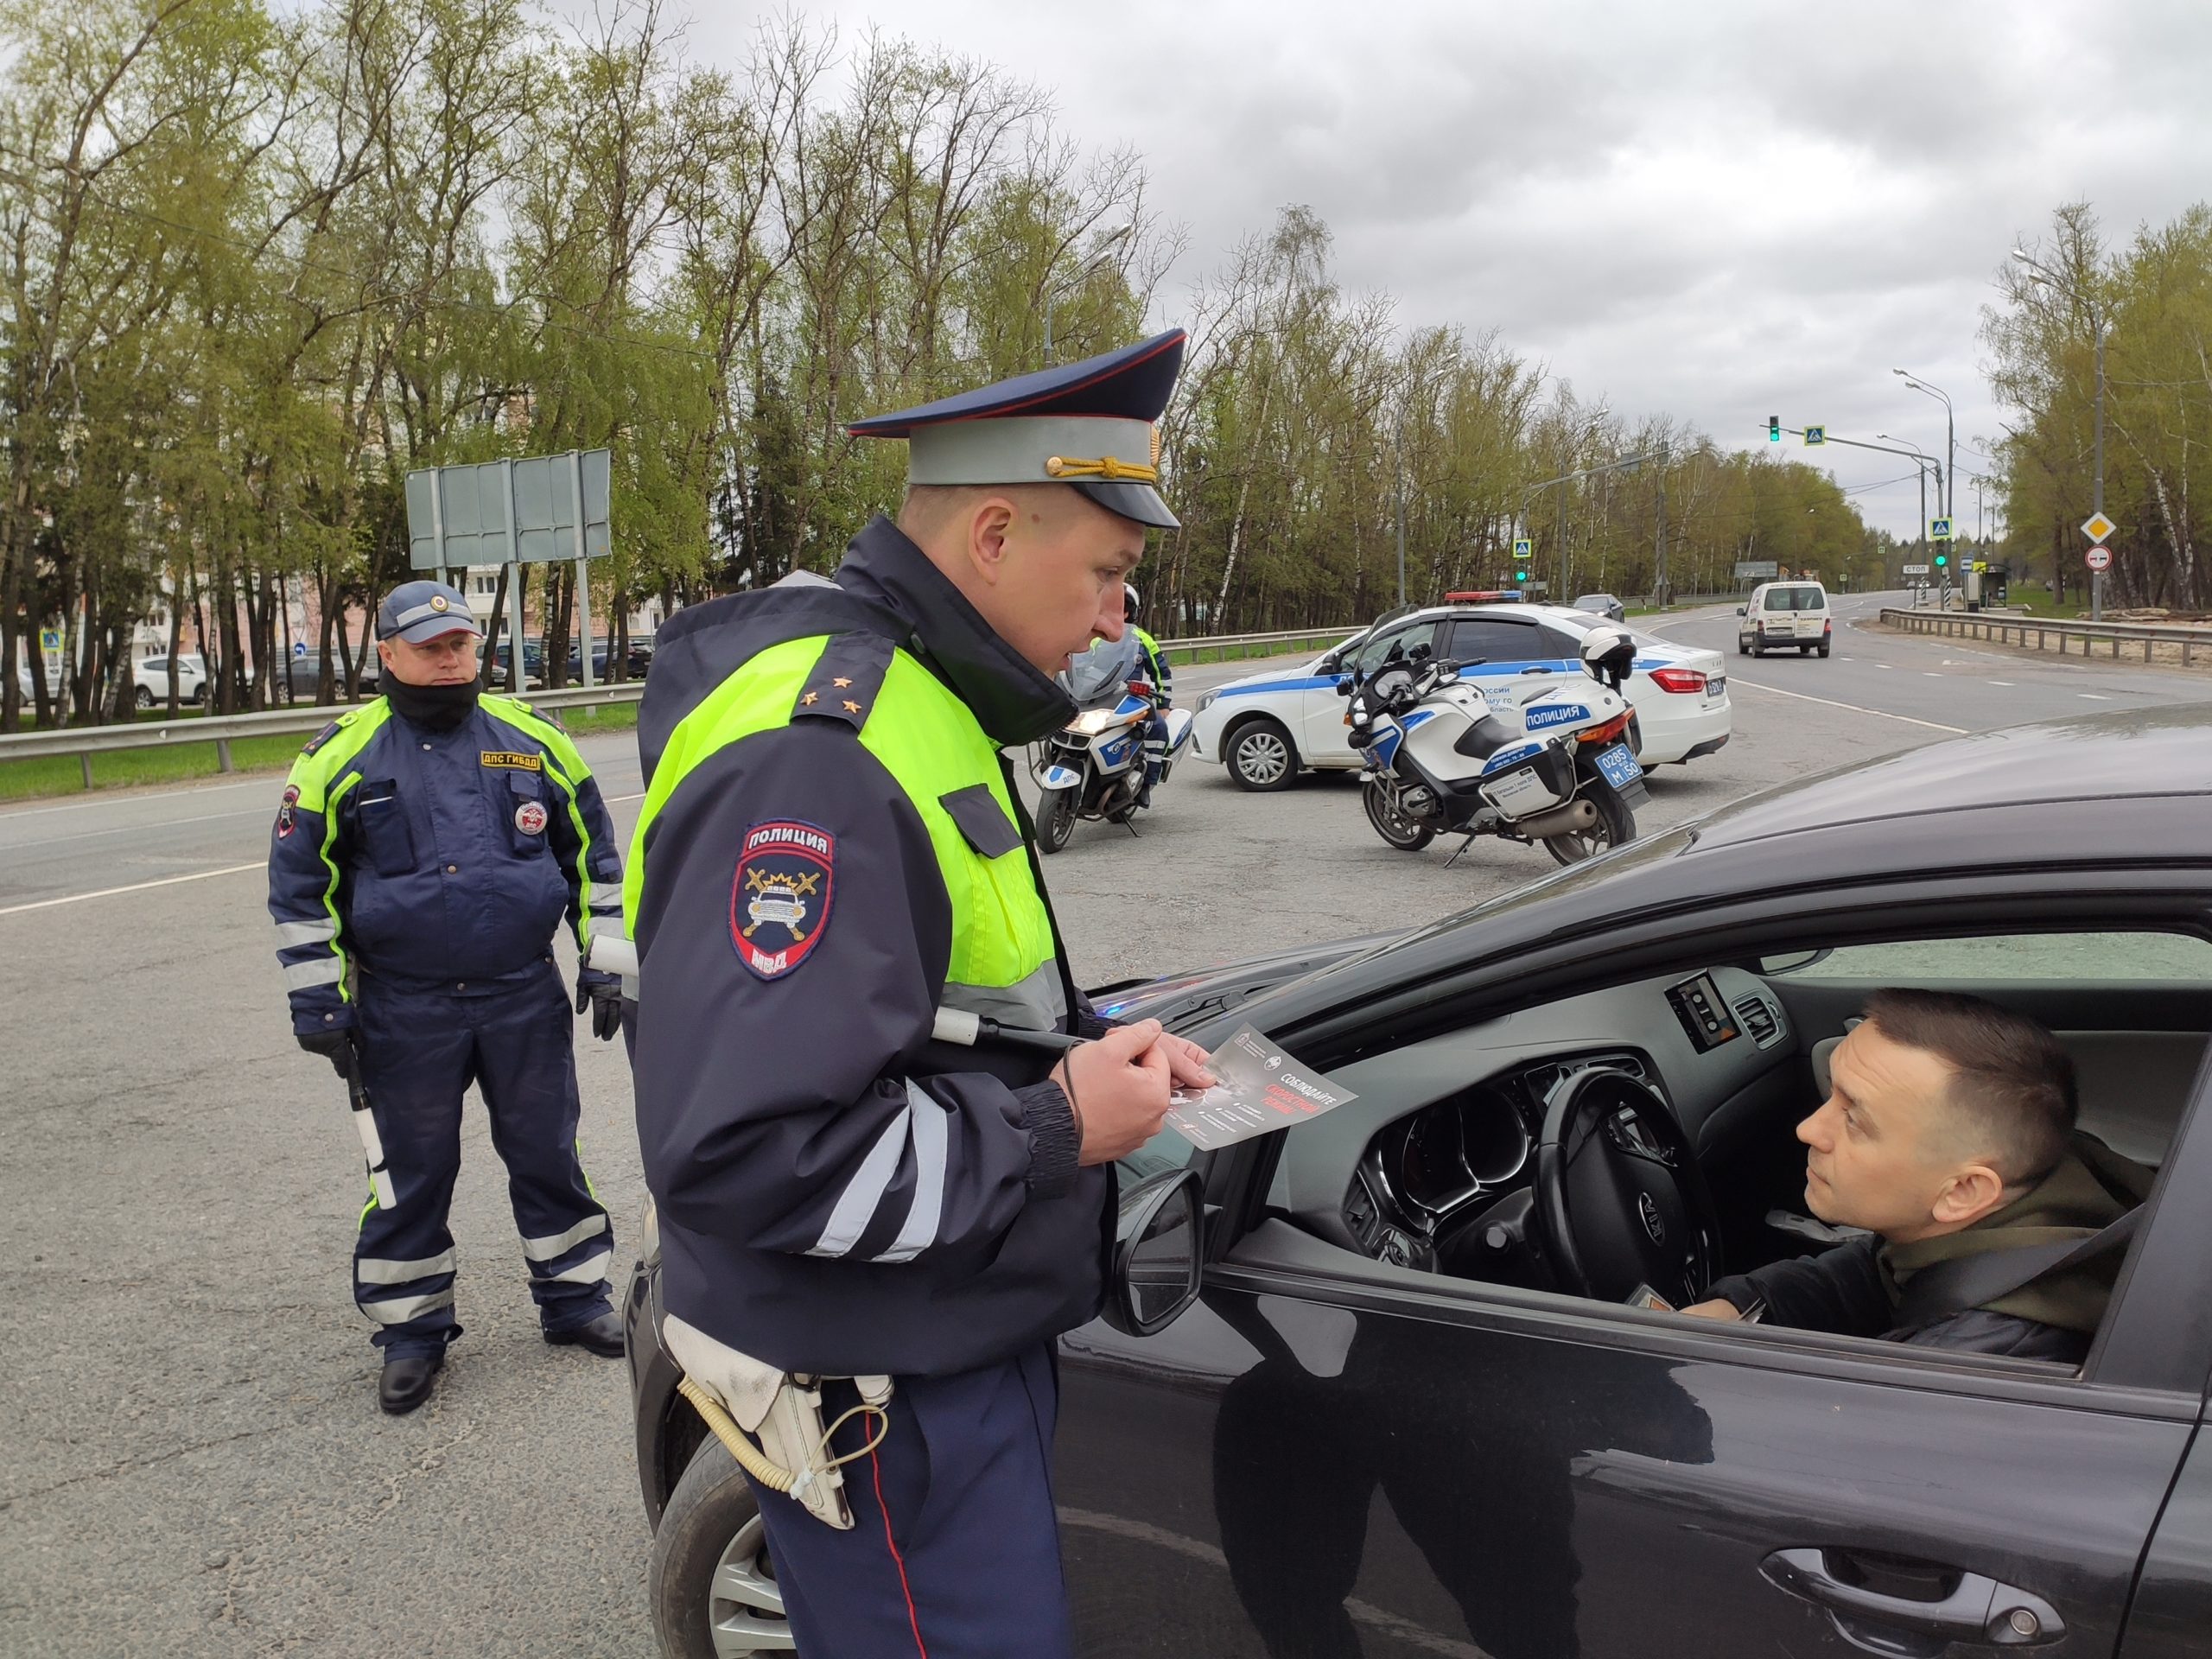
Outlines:
POLYGON ((1913 1274, 1989 1250, 2088 1239, 2148 1172, 2075 1135, 2073 1060, 2042 1024, 1982 998, 1876 991, 1836 1048, 1827 1102, 1798 1124, 1805 1206, 1865 1237, 1721 1279, 1701 1318, 1882 1336, 2079 1365, 2119 1252, 1929 1323, 1900 1325, 1913 1274))

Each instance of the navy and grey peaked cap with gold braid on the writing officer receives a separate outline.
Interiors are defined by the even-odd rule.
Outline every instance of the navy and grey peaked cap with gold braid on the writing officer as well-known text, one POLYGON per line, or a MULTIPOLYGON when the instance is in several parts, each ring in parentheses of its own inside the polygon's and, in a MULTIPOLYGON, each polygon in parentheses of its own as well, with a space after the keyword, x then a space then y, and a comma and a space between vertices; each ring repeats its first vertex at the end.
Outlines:
POLYGON ((1073 484, 1108 513, 1175 529, 1159 498, 1159 440, 1183 367, 1179 327, 920 409, 856 420, 854 438, 905 438, 909 484, 1073 484))

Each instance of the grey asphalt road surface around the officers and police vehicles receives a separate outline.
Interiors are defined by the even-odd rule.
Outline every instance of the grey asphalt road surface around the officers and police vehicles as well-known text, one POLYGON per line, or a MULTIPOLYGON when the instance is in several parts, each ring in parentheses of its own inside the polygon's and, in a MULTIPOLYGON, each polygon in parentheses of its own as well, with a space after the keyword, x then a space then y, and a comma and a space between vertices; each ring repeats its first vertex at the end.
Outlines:
MULTIPOLYGON (((1736 737, 1652 779, 1648 827, 2020 719, 2197 701, 2179 675, 1849 628, 1730 655, 1736 737)), ((1732 653, 1734 615, 1672 619, 1732 653)), ((1188 701, 1250 666, 1186 668, 1188 701)), ((626 830, 628 737, 588 739, 626 830)), ((0 1650, 650 1655, 619 1363, 538 1338, 471 1106, 453 1203, 467 1336, 429 1407, 376 1411, 347 1298, 361 1152, 299 1053, 263 911, 274 776, 0 812, 0 1650)), ((1429 920, 1551 860, 1398 854, 1356 783, 1243 794, 1186 763, 1139 836, 1046 863, 1086 980, 1429 920)), ((566 958, 564 958, 566 962, 566 958)), ((644 1190, 617 1048, 580 1042, 586 1164, 628 1261, 644 1190)))

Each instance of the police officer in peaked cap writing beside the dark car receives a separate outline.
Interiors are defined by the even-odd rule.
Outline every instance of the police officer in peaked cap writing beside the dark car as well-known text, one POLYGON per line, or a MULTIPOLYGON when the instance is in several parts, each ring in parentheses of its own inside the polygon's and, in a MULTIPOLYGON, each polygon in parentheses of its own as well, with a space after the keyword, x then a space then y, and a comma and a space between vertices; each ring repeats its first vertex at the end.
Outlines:
POLYGON ((909 445, 898 520, 834 582, 659 633, 626 900, 661 1336, 803 1475, 754 1491, 823 1659, 1071 1650, 1053 1338, 1102 1305, 1108 1166, 1210 1077, 1075 989, 1002 750, 1066 723, 1053 675, 1119 637, 1175 524, 1181 356, 1177 330, 854 425, 909 445), (1086 1042, 947 1040, 973 1015, 1086 1042), (823 1469, 792 1422, 832 1429, 823 1469))

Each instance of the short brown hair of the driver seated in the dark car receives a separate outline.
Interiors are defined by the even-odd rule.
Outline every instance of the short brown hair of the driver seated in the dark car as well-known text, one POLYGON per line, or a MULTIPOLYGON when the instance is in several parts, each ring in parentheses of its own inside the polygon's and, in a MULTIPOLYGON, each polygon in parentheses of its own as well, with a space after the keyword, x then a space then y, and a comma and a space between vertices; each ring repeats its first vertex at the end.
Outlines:
POLYGON ((1867 998, 1867 1022, 1951 1066, 1949 1104, 2006 1188, 2042 1181, 2066 1157, 2075 1068, 2039 1020, 1960 991, 1889 989, 1867 998))

